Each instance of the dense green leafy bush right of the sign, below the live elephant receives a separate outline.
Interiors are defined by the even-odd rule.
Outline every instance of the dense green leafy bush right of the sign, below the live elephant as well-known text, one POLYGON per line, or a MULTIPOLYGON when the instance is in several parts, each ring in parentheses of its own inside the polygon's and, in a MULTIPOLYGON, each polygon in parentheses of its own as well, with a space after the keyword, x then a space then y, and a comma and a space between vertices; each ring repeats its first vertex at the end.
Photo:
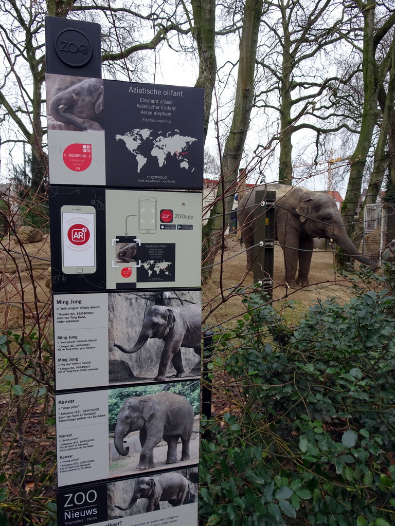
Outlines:
POLYGON ((231 409, 203 422, 201 523, 394 524, 395 298, 318 302, 294 328, 244 302, 210 365, 231 409))

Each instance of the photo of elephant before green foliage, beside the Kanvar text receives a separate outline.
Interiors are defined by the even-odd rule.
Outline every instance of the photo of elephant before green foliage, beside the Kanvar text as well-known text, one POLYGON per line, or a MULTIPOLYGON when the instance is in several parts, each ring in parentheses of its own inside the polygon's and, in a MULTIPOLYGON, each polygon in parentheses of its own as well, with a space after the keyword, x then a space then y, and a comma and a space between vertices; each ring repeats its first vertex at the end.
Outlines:
POLYGON ((164 386, 109 392, 112 477, 197 462, 199 441, 192 440, 192 433, 198 426, 195 417, 199 414, 199 381, 174 383, 167 391, 164 386))

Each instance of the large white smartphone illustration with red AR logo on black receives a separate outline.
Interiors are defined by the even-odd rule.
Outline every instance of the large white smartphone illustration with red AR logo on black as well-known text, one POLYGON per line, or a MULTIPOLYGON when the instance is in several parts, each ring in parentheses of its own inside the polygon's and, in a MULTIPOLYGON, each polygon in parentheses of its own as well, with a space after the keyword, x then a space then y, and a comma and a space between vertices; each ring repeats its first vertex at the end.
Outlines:
POLYGON ((95 219, 96 210, 93 206, 62 206, 64 274, 93 274, 96 271, 95 219))

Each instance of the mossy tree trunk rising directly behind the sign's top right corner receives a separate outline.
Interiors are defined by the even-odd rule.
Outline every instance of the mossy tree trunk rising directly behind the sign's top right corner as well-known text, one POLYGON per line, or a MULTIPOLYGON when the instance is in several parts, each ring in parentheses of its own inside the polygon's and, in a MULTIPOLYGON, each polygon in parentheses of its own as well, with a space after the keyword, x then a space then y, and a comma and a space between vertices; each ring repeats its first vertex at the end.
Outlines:
POLYGON ((193 37, 199 53, 199 77, 195 87, 204 88, 204 140, 210 121, 216 76, 215 0, 192 0, 193 37))

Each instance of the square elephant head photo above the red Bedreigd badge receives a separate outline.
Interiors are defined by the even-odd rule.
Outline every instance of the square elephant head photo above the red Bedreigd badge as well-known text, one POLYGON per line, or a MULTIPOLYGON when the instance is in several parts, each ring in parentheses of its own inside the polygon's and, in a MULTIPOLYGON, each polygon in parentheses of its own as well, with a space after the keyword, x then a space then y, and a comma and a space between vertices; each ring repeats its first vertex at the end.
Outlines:
POLYGON ((68 131, 104 129, 101 78, 47 75, 48 128, 68 131))

